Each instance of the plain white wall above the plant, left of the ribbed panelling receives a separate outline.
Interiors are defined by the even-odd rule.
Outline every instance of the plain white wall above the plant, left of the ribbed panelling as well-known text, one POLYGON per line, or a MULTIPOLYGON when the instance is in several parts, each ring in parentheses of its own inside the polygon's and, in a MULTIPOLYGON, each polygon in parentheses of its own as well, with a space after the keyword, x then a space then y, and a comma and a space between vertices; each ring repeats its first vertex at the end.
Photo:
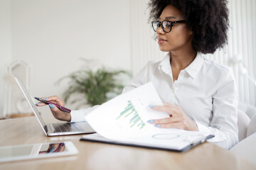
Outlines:
MULTIPOLYGON (((66 84, 55 82, 80 69, 85 64, 81 57, 95 60, 95 67, 130 70, 129 5, 129 0, 1 1, 5 40, 0 38, 0 43, 11 42, 1 51, 1 60, 8 55, 12 61, 28 62, 34 96, 60 96, 66 84)), ((1 63, 1 75, 3 68, 1 63)), ((2 84, 1 79, 0 111, 2 84)))

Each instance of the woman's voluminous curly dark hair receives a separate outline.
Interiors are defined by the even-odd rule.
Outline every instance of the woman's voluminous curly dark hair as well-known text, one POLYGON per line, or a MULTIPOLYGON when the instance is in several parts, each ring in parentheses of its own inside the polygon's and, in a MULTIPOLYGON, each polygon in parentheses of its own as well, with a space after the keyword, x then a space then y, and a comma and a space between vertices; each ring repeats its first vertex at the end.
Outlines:
POLYGON ((169 4, 186 18, 186 26, 193 31, 196 52, 213 53, 228 44, 227 0, 151 0, 149 19, 158 19, 169 4))

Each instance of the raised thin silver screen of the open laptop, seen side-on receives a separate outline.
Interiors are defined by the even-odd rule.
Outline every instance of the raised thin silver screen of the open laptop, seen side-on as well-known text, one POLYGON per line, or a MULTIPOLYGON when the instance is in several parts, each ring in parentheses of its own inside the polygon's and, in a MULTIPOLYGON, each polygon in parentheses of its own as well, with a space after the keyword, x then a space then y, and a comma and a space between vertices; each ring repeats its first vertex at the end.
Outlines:
MULTIPOLYGON (((36 118, 38 119, 39 123, 41 124, 41 127, 43 128, 46 125, 46 123, 43 122, 43 118, 41 117, 40 113, 38 112, 36 105, 33 103, 31 96, 28 94, 26 87, 24 86, 21 79, 18 79, 17 77, 15 77, 15 79, 16 79, 18 86, 20 87, 23 95, 26 97, 26 100, 28 101, 29 105, 31 106, 33 113, 35 113, 36 118)), ((44 128, 43 128, 43 130, 44 130, 44 128)))

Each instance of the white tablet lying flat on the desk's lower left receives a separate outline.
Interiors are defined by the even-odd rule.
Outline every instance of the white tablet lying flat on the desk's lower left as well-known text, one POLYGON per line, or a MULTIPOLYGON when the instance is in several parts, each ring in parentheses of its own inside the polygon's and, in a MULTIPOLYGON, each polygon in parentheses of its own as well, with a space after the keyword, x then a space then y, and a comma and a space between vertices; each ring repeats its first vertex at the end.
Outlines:
POLYGON ((16 145, 0 147, 0 162, 60 157, 73 154, 78 154, 78 149, 70 141, 16 145))

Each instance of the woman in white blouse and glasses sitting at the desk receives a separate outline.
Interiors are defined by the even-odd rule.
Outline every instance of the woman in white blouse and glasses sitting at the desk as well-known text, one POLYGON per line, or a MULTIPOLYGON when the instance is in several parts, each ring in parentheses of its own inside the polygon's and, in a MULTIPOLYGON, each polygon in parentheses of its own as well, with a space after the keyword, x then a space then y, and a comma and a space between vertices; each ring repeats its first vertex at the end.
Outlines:
MULTIPOLYGON (((151 18, 159 48, 169 52, 161 62, 146 64, 123 93, 151 81, 164 106, 150 106, 169 118, 149 120, 159 128, 210 132, 220 147, 238 142, 238 90, 233 72, 203 57, 227 42, 225 0, 151 0, 151 18)), ((47 99, 63 106, 57 96, 47 99)), ((39 103, 38 106, 43 106, 39 103)), ((50 106, 55 118, 84 120, 95 107, 65 114, 50 106)))

